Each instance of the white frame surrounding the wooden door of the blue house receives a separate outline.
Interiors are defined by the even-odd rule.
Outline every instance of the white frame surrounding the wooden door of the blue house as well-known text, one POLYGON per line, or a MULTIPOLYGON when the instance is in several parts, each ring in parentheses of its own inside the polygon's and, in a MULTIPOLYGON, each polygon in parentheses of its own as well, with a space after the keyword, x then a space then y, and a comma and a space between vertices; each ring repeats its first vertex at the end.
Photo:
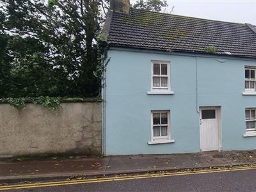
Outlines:
POLYGON ((222 148, 222 127, 221 127, 221 106, 200 106, 199 107, 199 145, 200 145, 200 150, 202 150, 201 146, 201 120, 202 120, 202 109, 215 109, 216 110, 216 118, 218 121, 218 149, 221 150, 222 148))

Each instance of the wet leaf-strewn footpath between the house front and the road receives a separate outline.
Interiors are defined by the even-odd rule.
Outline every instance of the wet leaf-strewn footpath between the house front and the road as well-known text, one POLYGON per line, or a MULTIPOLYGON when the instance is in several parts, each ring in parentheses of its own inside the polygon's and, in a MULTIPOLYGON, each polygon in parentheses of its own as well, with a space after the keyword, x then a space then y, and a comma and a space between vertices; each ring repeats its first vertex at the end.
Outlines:
POLYGON ((136 156, 0 159, 0 184, 256 165, 256 150, 136 156))

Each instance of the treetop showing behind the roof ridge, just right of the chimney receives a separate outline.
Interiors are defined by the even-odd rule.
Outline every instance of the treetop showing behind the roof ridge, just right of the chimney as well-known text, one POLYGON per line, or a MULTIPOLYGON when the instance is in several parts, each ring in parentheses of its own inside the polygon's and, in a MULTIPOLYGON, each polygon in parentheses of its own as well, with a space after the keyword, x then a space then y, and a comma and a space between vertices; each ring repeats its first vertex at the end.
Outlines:
POLYGON ((168 6, 166 0, 137 0, 132 7, 141 10, 161 12, 162 8, 166 6, 168 6))

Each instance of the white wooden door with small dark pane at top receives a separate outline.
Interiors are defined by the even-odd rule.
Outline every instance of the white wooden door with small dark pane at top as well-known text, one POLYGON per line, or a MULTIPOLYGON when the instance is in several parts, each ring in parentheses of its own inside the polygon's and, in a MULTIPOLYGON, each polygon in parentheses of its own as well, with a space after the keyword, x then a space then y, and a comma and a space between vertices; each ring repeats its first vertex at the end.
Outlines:
POLYGON ((220 149, 220 108, 200 108, 200 148, 202 151, 220 149))

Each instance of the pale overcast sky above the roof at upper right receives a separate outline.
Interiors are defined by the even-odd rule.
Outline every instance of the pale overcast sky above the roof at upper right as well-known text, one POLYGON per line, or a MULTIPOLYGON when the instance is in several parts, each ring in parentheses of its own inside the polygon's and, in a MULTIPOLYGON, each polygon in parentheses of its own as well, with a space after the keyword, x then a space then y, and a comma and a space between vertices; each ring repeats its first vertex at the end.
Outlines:
MULTIPOLYGON (((130 0, 135 3, 136 0, 130 0)), ((256 25, 256 0, 167 0, 166 13, 256 25)))

